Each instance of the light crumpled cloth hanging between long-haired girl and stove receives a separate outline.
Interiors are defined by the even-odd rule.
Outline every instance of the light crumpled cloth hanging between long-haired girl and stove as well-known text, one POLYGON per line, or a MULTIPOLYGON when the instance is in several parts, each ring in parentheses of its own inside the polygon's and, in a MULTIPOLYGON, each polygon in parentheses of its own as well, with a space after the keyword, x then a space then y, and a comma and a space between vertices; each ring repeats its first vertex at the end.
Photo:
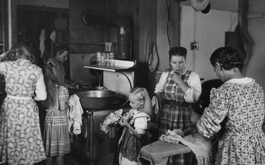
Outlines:
POLYGON ((70 96, 69 108, 67 109, 68 130, 70 134, 80 134, 82 125, 83 109, 79 97, 76 94, 70 96))

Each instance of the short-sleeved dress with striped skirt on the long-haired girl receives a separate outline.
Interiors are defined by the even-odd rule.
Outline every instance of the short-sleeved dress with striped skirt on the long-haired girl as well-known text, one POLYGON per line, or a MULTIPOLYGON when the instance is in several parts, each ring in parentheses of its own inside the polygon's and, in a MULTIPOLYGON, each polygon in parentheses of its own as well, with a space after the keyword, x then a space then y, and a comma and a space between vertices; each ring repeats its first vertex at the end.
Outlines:
POLYGON ((47 109, 44 126, 44 148, 47 156, 63 156, 70 153, 70 139, 68 132, 66 111, 59 110, 59 103, 67 102, 68 90, 59 86, 55 105, 47 109))

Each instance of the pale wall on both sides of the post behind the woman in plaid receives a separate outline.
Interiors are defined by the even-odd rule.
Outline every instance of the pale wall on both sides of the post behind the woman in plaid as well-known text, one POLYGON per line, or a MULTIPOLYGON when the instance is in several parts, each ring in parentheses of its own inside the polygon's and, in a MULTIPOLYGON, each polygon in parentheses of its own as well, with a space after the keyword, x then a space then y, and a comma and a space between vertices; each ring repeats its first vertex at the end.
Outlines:
MULTIPOLYGON (((169 44, 166 33, 166 4, 158 4, 158 8, 159 80, 161 72, 165 72, 169 68, 169 44)), ((216 79, 217 76, 209 58, 215 49, 225 46, 225 32, 234 31, 237 24, 237 13, 211 10, 208 14, 203 14, 194 11, 191 7, 181 6, 180 17, 180 46, 187 49, 186 67, 198 73, 200 78, 204 78, 204 81, 216 79), (191 50, 191 42, 194 41, 199 43, 199 50, 191 50)))

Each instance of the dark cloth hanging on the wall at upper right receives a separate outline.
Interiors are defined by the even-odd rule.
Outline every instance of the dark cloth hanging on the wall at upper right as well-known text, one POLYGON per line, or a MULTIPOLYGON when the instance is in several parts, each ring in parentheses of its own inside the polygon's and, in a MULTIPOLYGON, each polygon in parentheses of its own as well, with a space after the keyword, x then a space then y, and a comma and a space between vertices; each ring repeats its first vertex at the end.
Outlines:
POLYGON ((245 44, 249 44, 249 41, 245 37, 244 33, 241 31, 240 25, 236 26, 236 29, 233 33, 229 46, 236 49, 238 51, 238 55, 241 60, 244 62, 246 59, 246 50, 245 44))

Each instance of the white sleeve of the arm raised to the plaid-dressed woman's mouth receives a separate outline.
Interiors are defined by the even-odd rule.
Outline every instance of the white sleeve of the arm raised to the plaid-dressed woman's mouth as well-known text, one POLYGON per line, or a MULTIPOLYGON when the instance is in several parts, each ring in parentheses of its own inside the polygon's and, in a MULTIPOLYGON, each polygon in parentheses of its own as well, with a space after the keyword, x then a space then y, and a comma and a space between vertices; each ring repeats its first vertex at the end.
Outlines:
POLYGON ((185 92, 186 102, 197 102, 201 95, 201 80, 197 73, 192 72, 188 79, 189 89, 185 92))

